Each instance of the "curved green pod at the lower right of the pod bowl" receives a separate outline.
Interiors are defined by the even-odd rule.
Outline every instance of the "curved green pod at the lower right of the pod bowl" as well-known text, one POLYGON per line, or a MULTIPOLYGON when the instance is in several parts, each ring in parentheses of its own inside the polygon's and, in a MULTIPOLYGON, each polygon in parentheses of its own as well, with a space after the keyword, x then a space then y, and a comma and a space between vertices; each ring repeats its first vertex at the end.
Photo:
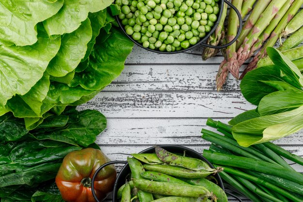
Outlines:
POLYGON ((217 202, 228 202, 227 200, 227 195, 224 192, 224 190, 214 184, 213 182, 205 179, 205 178, 200 178, 200 179, 183 179, 185 182, 195 185, 195 186, 204 186, 207 188, 210 192, 213 193, 213 195, 217 198, 217 202))

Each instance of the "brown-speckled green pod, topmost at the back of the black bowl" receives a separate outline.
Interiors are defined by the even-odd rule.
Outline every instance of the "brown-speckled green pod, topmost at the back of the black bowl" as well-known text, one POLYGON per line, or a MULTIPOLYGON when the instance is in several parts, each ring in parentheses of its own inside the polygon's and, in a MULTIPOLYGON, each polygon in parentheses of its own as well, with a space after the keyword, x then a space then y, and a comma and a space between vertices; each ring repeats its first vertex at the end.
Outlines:
POLYGON ((172 166, 181 166, 193 171, 206 170, 214 171, 206 162, 201 159, 191 158, 187 156, 175 155, 161 147, 155 147, 156 155, 165 163, 172 166))

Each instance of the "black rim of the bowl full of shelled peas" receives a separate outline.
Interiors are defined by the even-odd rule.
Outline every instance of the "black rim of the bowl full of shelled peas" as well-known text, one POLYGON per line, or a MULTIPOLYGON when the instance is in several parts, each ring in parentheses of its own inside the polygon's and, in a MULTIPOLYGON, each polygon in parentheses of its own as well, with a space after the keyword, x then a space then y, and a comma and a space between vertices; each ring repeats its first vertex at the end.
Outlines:
MULTIPOLYGON (((219 1, 218 1, 219 2, 219 1)), ((219 3, 218 3, 219 4, 219 3)), ((137 41, 135 41, 130 35, 128 35, 127 33, 126 33, 126 31, 125 31, 125 29, 124 29, 124 26, 121 24, 121 20, 120 20, 120 18, 119 18, 119 16, 117 15, 116 16, 116 20, 117 20, 117 22, 118 22, 118 24, 119 24, 119 27, 121 28, 121 30, 124 32, 124 34, 132 41, 132 42, 134 42, 137 46, 139 46, 139 47, 142 47, 142 48, 144 48, 144 49, 146 49, 146 50, 149 50, 149 51, 152 51, 152 52, 154 52, 154 53, 161 53, 161 54, 175 54, 175 53, 182 53, 182 52, 185 52, 185 51, 187 51, 187 50, 190 50, 190 49, 192 49, 192 48, 194 48, 194 47, 197 47, 197 46, 199 46, 199 45, 201 45, 204 41, 206 41, 211 35, 212 35, 212 33, 217 29, 217 27, 218 27, 218 25, 219 25, 219 22, 220 22, 220 19, 221 19, 221 17, 222 17, 222 12, 223 12, 223 6, 224 6, 224 0, 221 0, 221 4, 219 4, 219 6, 221 5, 221 7, 219 8, 220 9, 220 11, 219 11, 219 16, 217 17, 217 21, 216 21, 216 23, 213 25, 213 27, 212 27, 212 29, 211 29, 211 31, 207 34, 207 35, 205 35, 197 44, 195 44, 194 46, 191 46, 191 47, 188 47, 188 48, 186 48, 186 49, 182 49, 182 50, 178 50, 178 51, 173 51, 173 52, 166 52, 166 51, 160 51, 160 50, 153 50, 153 49, 151 49, 151 48, 146 48, 146 47, 143 47, 142 46, 142 44, 140 44, 140 43, 138 43, 137 41)), ((202 46, 203 46, 203 44, 202 44, 202 46)))

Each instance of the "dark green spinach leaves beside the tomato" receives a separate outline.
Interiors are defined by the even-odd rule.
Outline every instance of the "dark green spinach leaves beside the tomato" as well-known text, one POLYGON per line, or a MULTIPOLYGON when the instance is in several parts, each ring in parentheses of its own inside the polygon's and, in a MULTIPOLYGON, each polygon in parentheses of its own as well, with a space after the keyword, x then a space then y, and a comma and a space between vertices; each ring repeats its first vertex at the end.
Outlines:
POLYGON ((56 186, 47 189, 65 155, 86 147, 106 128, 96 110, 68 107, 33 130, 12 113, 0 117, 0 197, 2 201, 61 202, 56 186), (3 134, 3 135, 2 135, 3 134))

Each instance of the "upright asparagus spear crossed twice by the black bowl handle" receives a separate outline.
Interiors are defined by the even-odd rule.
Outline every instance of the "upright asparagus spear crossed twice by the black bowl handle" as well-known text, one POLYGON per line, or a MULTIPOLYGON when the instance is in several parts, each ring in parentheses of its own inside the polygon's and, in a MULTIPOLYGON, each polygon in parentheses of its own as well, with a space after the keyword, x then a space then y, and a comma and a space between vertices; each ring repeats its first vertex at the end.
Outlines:
MULTIPOLYGON (((241 10, 242 0, 232 0, 231 3, 238 9, 241 10)), ((229 10, 228 16, 228 25, 227 25, 227 41, 232 41, 237 35, 239 20, 237 13, 234 10, 229 10)), ((235 77, 239 77, 238 74, 235 74, 237 71, 239 64, 237 61, 237 52, 236 52, 236 43, 233 43, 229 47, 226 48, 227 54, 227 68, 230 73, 235 77)))

